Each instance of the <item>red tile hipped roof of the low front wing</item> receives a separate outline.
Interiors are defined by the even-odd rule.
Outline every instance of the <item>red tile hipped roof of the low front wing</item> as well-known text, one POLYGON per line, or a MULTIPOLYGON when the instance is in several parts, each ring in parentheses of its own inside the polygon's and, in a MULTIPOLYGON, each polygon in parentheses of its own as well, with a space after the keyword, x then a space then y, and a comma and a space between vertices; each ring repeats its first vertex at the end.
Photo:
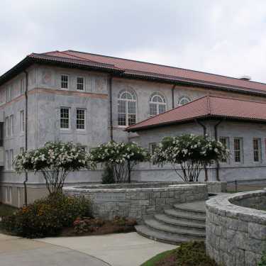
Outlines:
POLYGON ((146 128, 184 123, 200 118, 227 118, 266 122, 266 103, 204 96, 129 126, 126 131, 140 131, 146 128))

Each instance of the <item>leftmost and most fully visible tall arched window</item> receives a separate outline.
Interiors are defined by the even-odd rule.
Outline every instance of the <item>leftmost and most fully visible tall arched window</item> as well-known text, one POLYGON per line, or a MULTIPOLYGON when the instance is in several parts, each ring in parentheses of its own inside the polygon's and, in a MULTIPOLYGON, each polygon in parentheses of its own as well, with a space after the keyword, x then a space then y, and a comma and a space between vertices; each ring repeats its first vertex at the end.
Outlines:
POLYGON ((136 122, 135 93, 123 90, 118 95, 118 126, 131 126, 136 122))

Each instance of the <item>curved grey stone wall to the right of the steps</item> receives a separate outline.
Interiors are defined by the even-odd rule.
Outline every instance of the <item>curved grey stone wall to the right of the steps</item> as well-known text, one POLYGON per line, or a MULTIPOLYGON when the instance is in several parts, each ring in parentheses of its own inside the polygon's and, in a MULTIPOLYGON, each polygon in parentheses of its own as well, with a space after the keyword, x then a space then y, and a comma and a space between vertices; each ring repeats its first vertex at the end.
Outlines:
POLYGON ((258 210, 265 204, 265 190, 206 201, 207 253, 221 265, 257 265, 266 251, 266 211, 258 210))

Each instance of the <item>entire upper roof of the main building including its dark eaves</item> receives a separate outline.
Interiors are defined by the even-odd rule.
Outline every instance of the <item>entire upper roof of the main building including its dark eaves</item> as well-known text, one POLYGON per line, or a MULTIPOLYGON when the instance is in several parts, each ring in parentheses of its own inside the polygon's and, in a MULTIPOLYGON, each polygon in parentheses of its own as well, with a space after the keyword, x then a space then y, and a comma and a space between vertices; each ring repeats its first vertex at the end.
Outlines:
POLYGON ((73 50, 32 53, 3 74, 0 77, 0 85, 34 62, 112 72, 120 77, 156 80, 172 84, 191 84, 248 94, 266 94, 266 84, 260 82, 73 50))

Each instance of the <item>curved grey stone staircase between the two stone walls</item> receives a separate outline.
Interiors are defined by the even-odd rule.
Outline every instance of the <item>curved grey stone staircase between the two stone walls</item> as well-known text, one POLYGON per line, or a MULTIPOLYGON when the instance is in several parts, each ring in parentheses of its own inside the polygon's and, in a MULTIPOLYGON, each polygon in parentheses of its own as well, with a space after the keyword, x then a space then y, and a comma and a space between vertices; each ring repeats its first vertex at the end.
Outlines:
POLYGON ((175 204, 172 209, 155 214, 135 229, 147 238, 179 245, 191 240, 205 240, 205 221, 205 201, 195 201, 175 204))

